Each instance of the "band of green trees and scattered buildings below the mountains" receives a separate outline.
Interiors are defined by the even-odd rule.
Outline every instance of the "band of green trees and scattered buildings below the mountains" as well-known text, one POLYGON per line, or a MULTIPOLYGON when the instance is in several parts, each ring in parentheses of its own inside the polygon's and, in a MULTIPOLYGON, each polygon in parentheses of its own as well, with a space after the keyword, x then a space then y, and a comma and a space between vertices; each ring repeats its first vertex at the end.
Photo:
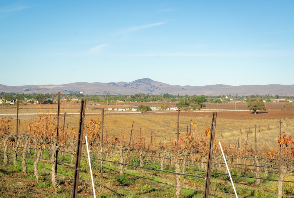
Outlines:
MULTIPOLYGON (((228 103, 231 100, 237 101, 246 101, 249 102, 250 99, 253 98, 261 98, 266 102, 270 102, 271 99, 287 99, 291 100, 294 99, 294 96, 279 96, 279 95, 218 95, 218 96, 205 96, 205 95, 172 95, 169 93, 162 93, 161 95, 150 95, 150 94, 143 94, 138 93, 135 95, 85 95, 83 93, 63 93, 62 98, 65 100, 71 99, 86 99, 87 101, 93 102, 105 102, 105 103, 113 103, 116 101, 125 101, 125 102, 156 102, 156 101, 164 101, 164 102, 179 102, 178 106, 185 107, 191 106, 193 109, 201 109, 205 107, 203 104, 204 102, 210 103, 228 103)), ((6 100, 16 101, 20 100, 21 102, 30 101, 33 103, 32 100, 39 101, 39 103, 54 103, 57 100, 57 95, 54 93, 5 93, 0 92, 0 99, 6 102, 6 100)))

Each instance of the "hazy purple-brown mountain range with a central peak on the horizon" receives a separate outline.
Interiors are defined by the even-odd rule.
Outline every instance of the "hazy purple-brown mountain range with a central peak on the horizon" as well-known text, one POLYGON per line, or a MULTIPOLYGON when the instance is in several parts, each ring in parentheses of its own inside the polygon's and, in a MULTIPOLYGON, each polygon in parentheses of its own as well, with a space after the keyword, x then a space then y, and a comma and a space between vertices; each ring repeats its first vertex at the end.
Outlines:
POLYGON ((0 84, 0 92, 14 93, 83 93, 83 94, 110 94, 110 95, 135 95, 144 93, 161 95, 169 93, 173 95, 280 95, 294 96, 294 85, 206 85, 206 86, 180 86, 169 85, 149 78, 126 82, 110 83, 69 83, 64 85, 23 85, 6 86, 0 84))

